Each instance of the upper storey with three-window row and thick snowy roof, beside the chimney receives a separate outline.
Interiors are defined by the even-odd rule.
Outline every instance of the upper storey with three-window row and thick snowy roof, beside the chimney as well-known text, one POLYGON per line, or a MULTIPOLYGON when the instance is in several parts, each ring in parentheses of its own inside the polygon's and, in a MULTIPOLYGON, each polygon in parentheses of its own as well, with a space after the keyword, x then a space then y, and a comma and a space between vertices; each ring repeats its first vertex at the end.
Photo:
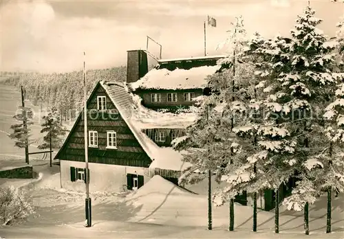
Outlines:
MULTIPOLYGON (((128 58, 130 56, 128 54, 128 58)), ((158 65, 140 78, 130 78, 128 74, 127 82, 148 108, 187 108, 193 105, 193 98, 209 91, 206 78, 219 69, 217 60, 220 58, 224 56, 158 60, 158 65)), ((128 65, 128 69, 136 67, 134 63, 128 65)))

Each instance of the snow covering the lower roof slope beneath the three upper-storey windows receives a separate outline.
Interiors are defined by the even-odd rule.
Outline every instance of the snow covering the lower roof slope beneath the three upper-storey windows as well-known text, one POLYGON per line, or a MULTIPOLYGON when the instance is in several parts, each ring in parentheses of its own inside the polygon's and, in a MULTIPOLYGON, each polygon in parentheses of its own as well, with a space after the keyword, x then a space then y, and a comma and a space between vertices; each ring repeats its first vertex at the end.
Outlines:
POLYGON ((137 128, 186 128, 197 120, 197 109, 191 108, 189 113, 162 113, 142 106, 142 98, 131 94, 133 113, 131 120, 137 128))

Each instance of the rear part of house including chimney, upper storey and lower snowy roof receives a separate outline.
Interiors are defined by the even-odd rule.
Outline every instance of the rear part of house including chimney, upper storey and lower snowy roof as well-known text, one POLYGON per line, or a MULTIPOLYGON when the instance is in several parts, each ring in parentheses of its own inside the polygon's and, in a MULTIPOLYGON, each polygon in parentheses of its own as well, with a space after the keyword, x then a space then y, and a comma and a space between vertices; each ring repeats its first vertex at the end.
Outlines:
POLYGON ((193 98, 210 92, 207 77, 219 70, 217 60, 224 57, 158 60, 158 65, 147 71, 147 54, 143 50, 128 51, 129 91, 136 95, 138 105, 165 112, 160 114, 164 120, 158 124, 156 115, 151 119, 147 115, 140 117, 145 122, 142 130, 155 144, 171 146, 173 139, 184 135, 184 128, 195 120, 193 98))

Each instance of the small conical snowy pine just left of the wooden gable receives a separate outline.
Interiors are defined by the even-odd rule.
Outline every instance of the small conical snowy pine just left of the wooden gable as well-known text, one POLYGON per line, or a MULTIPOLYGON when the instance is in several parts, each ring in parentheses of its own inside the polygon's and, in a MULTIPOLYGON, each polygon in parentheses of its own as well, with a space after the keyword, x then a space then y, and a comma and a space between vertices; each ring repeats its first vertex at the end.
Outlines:
MULTIPOLYGON (((60 148, 62 139, 59 136, 65 135, 66 131, 60 124, 60 114, 56 107, 49 109, 47 115, 43 116, 43 127, 41 133, 47 133, 44 137, 44 143, 39 145, 39 149, 49 148, 60 148)), ((50 167, 52 167, 52 152, 50 152, 50 167)))

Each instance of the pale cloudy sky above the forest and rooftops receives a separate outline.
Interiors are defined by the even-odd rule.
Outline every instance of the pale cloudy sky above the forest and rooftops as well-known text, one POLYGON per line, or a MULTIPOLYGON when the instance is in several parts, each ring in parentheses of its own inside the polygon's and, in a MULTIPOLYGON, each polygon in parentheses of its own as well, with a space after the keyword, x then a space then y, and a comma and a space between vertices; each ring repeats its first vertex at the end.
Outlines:
MULTIPOLYGON (((248 33, 288 36, 306 0, 241 1, 100 1, 0 0, 1 71, 72 71, 126 65, 127 50, 145 49, 149 35, 162 44, 162 58, 202 56, 204 20, 209 14, 217 27, 207 30, 208 54, 226 38, 235 16, 242 14, 248 33)), ((321 29, 334 36, 343 3, 311 0, 321 29)), ((150 50, 158 54, 158 47, 150 50)), ((152 48, 151 48, 152 47, 152 48)), ((153 48, 154 47, 154 48, 153 48)))

